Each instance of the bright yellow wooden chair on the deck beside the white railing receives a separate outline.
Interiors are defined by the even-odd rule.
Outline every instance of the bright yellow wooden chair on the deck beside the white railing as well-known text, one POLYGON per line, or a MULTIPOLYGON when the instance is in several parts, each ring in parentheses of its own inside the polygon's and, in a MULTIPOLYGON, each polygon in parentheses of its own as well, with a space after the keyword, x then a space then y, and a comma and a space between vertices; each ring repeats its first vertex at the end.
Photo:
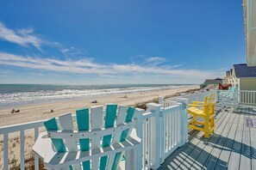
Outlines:
POLYGON ((215 131, 215 104, 213 103, 214 94, 205 97, 204 101, 193 101, 188 106, 188 113, 191 115, 189 128, 203 131, 204 137, 209 138, 210 133, 215 131), (198 119, 203 119, 199 121, 198 119))

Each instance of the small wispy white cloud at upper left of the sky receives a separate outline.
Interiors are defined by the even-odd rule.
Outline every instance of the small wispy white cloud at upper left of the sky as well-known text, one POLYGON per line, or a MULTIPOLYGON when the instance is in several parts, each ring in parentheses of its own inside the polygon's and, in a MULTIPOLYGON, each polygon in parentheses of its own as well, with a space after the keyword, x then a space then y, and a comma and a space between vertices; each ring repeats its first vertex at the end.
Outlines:
POLYGON ((43 43, 43 40, 34 34, 34 29, 13 30, 5 27, 2 22, 0 22, 0 39, 20 46, 35 46, 39 50, 41 50, 41 44, 43 43))

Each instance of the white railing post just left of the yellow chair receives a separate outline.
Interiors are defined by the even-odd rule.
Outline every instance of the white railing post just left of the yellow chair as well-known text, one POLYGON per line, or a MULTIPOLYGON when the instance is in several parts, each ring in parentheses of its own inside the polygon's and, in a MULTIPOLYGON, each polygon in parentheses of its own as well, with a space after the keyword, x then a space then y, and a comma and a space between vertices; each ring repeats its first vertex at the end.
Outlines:
POLYGON ((188 142, 188 103, 189 99, 178 98, 178 103, 181 108, 181 143, 179 146, 183 146, 184 143, 188 142))

